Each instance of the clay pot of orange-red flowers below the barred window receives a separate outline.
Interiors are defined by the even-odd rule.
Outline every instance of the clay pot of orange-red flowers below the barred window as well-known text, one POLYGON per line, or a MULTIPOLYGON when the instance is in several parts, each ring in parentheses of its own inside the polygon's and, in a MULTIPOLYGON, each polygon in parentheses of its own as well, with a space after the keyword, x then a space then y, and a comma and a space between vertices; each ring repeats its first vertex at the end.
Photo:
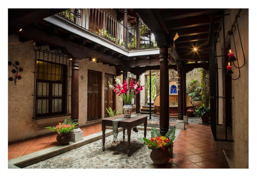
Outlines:
POLYGON ((63 123, 59 123, 55 127, 50 127, 50 126, 45 127, 45 129, 49 129, 52 132, 57 132, 58 133, 56 137, 57 142, 61 145, 66 145, 66 144, 69 144, 71 139, 70 131, 76 128, 75 125, 77 124, 78 123, 75 124, 71 118, 70 118, 70 121, 68 122, 68 119, 66 117, 63 123))

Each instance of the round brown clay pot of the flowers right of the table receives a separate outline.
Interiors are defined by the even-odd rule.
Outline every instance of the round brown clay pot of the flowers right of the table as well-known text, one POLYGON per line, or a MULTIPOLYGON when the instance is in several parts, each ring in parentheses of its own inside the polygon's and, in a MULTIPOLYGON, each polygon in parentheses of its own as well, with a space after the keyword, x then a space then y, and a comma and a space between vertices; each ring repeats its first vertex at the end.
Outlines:
POLYGON ((156 165, 165 165, 170 160, 170 152, 168 149, 164 152, 161 150, 152 150, 150 157, 156 165))

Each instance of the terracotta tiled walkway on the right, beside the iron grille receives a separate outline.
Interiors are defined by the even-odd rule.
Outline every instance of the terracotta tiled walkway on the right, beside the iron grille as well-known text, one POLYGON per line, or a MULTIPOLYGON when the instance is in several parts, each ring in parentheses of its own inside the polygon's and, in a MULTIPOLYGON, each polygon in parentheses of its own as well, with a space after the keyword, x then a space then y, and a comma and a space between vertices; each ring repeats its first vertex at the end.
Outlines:
POLYGON ((187 124, 174 142, 173 158, 159 168, 228 168, 214 143, 210 125, 187 124))

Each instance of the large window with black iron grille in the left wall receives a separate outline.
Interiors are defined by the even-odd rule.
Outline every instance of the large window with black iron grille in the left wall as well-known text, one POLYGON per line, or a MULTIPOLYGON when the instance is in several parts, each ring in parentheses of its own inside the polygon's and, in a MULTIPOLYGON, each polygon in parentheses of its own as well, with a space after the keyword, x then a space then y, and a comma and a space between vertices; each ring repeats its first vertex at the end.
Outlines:
POLYGON ((34 119, 70 115, 70 60, 61 52, 35 51, 34 119))

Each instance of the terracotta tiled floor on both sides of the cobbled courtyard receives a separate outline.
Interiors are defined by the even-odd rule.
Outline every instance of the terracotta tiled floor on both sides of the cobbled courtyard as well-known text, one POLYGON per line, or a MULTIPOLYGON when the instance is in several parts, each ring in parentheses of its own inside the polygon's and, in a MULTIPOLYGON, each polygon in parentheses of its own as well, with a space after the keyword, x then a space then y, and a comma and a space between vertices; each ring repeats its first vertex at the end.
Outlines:
MULTIPOLYGON (((101 123, 80 127, 84 136, 102 131, 101 123)), ((8 144, 8 160, 56 146, 56 134, 8 144)), ((174 142, 173 158, 159 168, 228 168, 222 150, 216 148, 210 125, 187 124, 174 142)))

